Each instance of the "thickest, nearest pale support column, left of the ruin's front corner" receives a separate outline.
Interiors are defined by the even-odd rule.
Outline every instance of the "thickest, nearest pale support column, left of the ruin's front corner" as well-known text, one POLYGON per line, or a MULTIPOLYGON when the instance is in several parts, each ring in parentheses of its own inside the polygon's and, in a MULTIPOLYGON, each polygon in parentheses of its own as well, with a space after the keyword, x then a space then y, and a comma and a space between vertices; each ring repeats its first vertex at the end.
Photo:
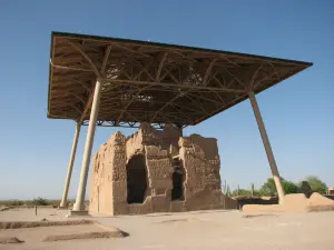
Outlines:
POLYGON ((91 148, 94 142, 94 136, 95 136, 95 129, 96 129, 96 122, 97 122, 98 109, 100 102, 100 93, 101 93, 101 81, 100 79, 98 79, 96 81, 94 100, 91 104, 77 200, 71 211, 71 214, 81 214, 81 213, 87 214, 85 208, 85 196, 86 196, 86 186, 87 186, 87 178, 88 178, 90 157, 91 157, 91 148))

